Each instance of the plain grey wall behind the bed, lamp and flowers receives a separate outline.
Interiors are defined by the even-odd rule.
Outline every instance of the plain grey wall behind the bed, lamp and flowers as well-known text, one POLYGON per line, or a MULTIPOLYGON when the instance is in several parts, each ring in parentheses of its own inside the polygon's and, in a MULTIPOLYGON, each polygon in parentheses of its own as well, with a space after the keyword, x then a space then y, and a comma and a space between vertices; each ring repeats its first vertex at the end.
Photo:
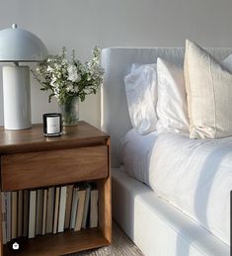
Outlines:
MULTIPOLYGON (((0 30, 12 23, 36 34, 50 53, 63 45, 86 61, 95 45, 232 46, 231 0, 0 0, 0 30)), ((32 66, 33 67, 33 66, 32 66)), ((33 123, 57 111, 32 76, 33 123)), ((0 73, 0 125, 3 125, 0 73)), ((80 119, 100 126, 100 94, 80 104, 80 119)))

